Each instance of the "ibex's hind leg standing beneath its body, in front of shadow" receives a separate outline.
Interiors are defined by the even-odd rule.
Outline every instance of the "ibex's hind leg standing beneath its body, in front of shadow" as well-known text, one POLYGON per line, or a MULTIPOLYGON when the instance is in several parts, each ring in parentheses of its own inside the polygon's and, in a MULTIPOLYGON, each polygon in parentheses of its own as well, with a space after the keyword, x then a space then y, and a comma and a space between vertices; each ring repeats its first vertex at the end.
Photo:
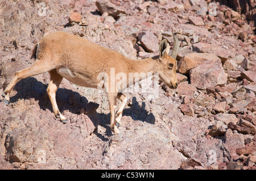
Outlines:
POLYGON ((68 123, 68 120, 65 116, 61 115, 60 110, 56 103, 56 91, 60 85, 60 82, 63 80, 63 77, 57 73, 55 69, 49 71, 50 79, 49 85, 47 87, 47 94, 52 103, 52 110, 57 118, 60 118, 62 123, 68 123))

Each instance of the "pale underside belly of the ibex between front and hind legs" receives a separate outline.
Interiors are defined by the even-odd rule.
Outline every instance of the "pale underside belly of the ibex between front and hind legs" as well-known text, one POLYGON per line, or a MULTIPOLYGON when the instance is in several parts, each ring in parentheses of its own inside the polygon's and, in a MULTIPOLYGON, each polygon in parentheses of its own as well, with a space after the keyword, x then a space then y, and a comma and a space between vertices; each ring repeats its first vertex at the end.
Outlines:
POLYGON ((82 76, 79 73, 75 73, 74 71, 61 67, 56 69, 57 73, 59 73, 62 77, 65 79, 68 79, 68 81, 75 83, 76 85, 83 86, 83 87, 92 87, 97 88, 97 82, 93 79, 86 78, 82 76))

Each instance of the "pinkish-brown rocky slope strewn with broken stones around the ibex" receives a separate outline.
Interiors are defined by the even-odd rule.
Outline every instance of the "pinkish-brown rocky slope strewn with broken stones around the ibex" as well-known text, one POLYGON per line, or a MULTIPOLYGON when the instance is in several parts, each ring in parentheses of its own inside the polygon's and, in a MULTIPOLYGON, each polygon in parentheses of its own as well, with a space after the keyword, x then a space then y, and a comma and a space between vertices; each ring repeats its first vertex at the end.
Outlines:
POLYGON ((10 105, 0 102, 0 169, 255 169, 255 1, 246 11, 214 2, 216 15, 209 3, 0 1, 0 94, 49 32, 138 59, 158 55, 162 39, 172 47, 172 31, 180 41, 177 89, 160 82, 157 99, 126 93, 117 136, 104 92, 64 79, 56 95, 63 124, 53 118, 48 73, 17 83, 10 105))

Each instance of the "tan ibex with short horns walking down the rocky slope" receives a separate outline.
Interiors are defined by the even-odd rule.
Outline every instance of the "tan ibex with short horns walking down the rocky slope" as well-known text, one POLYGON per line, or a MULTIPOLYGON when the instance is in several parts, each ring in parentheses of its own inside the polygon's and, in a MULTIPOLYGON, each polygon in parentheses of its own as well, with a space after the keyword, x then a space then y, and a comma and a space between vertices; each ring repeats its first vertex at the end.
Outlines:
MULTIPOLYGON (((101 47, 82 37, 66 32, 53 32, 44 36, 34 48, 34 64, 29 68, 17 71, 14 78, 3 92, 3 101, 9 104, 10 92, 15 84, 21 79, 49 72, 50 82, 47 94, 51 100, 55 116, 61 122, 67 123, 65 116, 61 115, 57 107, 55 95, 63 77, 79 86, 97 89, 100 79, 98 74, 106 73, 110 77, 110 69, 117 73, 158 73, 159 78, 170 88, 176 89, 176 56, 179 41, 174 37, 174 48, 171 56, 168 55, 170 45, 167 40, 159 44, 159 57, 156 59, 145 58, 142 60, 131 60, 114 50, 101 47)), ((143 77, 146 78, 146 77, 143 77)), ((142 79, 143 79, 142 78, 142 79)), ((110 80, 113 81, 113 80, 110 80)), ((137 80, 138 82, 139 80, 137 80)), ((133 81, 133 84, 136 81, 133 81)), ((104 88, 104 86, 102 87, 104 88)), ((106 88, 106 87, 105 87, 106 88)), ((107 92, 110 108, 110 127, 114 134, 118 134, 119 124, 127 98, 122 90, 107 92), (116 99, 121 100, 120 107, 115 114, 116 99)))

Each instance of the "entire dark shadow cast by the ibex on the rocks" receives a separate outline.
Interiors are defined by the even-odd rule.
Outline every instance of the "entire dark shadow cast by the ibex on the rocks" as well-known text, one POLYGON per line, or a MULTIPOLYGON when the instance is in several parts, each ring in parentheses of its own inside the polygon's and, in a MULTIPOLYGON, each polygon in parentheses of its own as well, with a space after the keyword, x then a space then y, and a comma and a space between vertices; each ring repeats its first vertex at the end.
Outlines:
MULTIPOLYGON (((38 101, 40 109, 48 109, 52 112, 53 116, 52 104, 46 91, 47 87, 48 84, 44 85, 42 82, 38 81, 36 78, 33 77, 22 79, 21 81, 16 83, 14 87, 14 90, 16 90, 16 95, 10 96, 10 102, 14 103, 17 102, 19 99, 35 99, 36 101, 38 101)), ((99 104, 97 103, 88 102, 88 100, 84 96, 81 96, 78 92, 63 88, 57 89, 56 102, 61 113, 63 113, 64 111, 69 111, 72 114, 76 115, 81 115, 80 112, 82 108, 85 108, 85 112, 88 112, 86 108, 89 107, 90 110, 93 112, 94 110, 97 110, 99 106, 99 104)), ((152 113, 148 113, 148 111, 145 110, 145 107, 146 104, 144 102, 139 103, 137 101, 137 98, 133 97, 131 106, 123 110, 123 116, 130 116, 135 121, 139 120, 146 123, 155 124, 155 116, 152 113)), ((85 114, 91 119, 90 113, 85 114)), ((67 115, 67 113, 64 113, 64 116, 67 117, 69 123, 76 122, 71 120, 72 116, 70 114, 67 115)), ((95 119, 94 117, 92 117, 91 120, 94 126, 97 128, 97 125, 100 124, 102 127, 106 128, 106 131, 105 135, 98 133, 97 129, 96 131, 94 131, 94 133, 103 141, 108 141, 109 137, 113 134, 109 126, 110 113, 106 115, 105 113, 97 112, 97 116, 100 120, 100 123, 98 123, 98 121, 93 121, 95 119)), ((53 119, 55 119, 55 116, 53 116, 53 119)))

